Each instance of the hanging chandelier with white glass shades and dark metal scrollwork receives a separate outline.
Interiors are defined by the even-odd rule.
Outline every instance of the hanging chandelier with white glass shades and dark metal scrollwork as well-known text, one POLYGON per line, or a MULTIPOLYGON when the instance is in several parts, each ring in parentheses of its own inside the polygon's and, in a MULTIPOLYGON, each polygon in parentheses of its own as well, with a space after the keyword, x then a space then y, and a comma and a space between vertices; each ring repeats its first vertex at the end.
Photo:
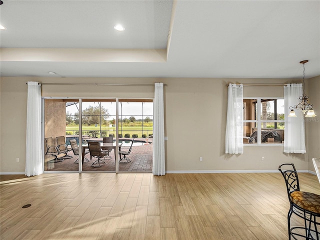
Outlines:
POLYGON ((314 114, 314 111, 312 109, 313 107, 313 104, 310 104, 308 103, 308 96, 305 95, 304 93, 304 63, 308 62, 308 60, 303 60, 303 61, 300 61, 301 64, 303 64, 303 80, 302 80, 302 91, 303 91, 303 94, 302 96, 299 96, 298 100, 300 101, 297 105, 293 105, 293 106, 289 106, 289 109, 290 110, 290 113, 288 116, 296 116, 295 115, 295 112, 294 112, 294 109, 299 109, 303 112, 303 115, 305 117, 314 117, 316 116, 314 114), (305 114, 306 112, 306 114, 305 114))

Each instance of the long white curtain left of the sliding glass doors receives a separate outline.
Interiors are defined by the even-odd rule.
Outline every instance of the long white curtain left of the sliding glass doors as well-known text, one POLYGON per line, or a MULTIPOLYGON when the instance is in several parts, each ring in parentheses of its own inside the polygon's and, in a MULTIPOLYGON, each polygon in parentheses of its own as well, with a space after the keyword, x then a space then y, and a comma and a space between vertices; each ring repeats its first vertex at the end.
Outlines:
POLYGON ((41 146, 41 87, 27 82, 25 175, 43 173, 41 146))

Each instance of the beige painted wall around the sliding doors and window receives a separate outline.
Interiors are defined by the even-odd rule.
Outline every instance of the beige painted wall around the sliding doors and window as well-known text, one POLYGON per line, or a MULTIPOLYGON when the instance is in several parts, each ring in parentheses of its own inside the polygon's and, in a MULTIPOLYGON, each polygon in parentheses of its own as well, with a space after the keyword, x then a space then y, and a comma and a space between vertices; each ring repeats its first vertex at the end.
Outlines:
MULTIPOLYGON (((315 101, 319 101, 318 79, 310 80, 310 88, 313 88, 313 85, 317 87, 317 91, 314 90, 312 93, 315 101)), ((64 83, 166 83, 164 104, 165 135, 168 138, 165 141, 167 171, 266 171, 277 170, 282 162, 293 162, 297 169, 311 169, 309 151, 307 154, 286 154, 283 153, 283 146, 251 145, 244 147, 243 154, 224 154, 226 84, 299 82, 297 79, 1 77, 1 172, 24 171, 25 82, 30 80, 64 83), (200 156, 203 157, 203 161, 199 161, 200 156), (262 156, 264 161, 261 161, 262 156), (20 162, 15 161, 16 157, 20 157, 20 162)), ((153 91, 153 86, 42 86, 42 96, 53 97, 153 97, 153 91)), ((280 97, 283 96, 283 89, 281 86, 248 86, 244 88, 244 95, 280 97)), ((316 105, 315 102, 313 104, 316 105)), ((317 112, 320 110, 317 109, 317 112)), ((314 124, 318 127, 319 123, 314 124)), ((307 131, 307 142, 318 142, 318 134, 312 134, 310 139, 308 135, 307 131)), ((310 148, 312 147, 313 145, 310 145, 310 148)), ((313 149, 310 152, 318 154, 313 149)))

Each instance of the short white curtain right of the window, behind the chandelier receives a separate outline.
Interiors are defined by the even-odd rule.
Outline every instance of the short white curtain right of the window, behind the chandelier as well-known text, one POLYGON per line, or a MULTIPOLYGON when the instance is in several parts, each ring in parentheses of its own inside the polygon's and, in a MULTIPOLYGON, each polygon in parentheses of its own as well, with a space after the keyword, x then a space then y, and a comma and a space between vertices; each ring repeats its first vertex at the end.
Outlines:
POLYGON ((296 117, 288 117, 289 106, 297 105, 302 95, 302 83, 290 83, 283 86, 284 96, 284 147, 286 153, 304 153, 304 116, 301 110, 295 110, 296 117))

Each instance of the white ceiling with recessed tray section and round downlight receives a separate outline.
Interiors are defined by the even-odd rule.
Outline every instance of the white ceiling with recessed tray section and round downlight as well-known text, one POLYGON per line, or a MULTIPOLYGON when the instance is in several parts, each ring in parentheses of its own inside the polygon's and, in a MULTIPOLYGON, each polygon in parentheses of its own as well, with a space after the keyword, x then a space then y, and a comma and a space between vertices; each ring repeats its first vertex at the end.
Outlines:
POLYGON ((3 2, 1 76, 320 75, 319 0, 3 2))

